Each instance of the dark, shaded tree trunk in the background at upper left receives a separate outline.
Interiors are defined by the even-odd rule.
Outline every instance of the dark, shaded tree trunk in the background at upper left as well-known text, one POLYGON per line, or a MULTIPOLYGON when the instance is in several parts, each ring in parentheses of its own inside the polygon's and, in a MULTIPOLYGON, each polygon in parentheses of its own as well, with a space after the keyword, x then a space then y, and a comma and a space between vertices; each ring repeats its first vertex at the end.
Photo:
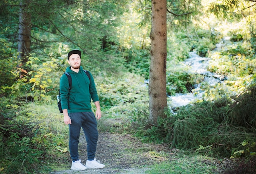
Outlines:
MULTIPOLYGON (((20 0, 20 17, 19 17, 19 36, 18 36, 18 59, 21 60, 21 65, 24 70, 25 64, 28 61, 31 44, 31 15, 26 11, 26 0, 20 0)), ((25 72, 23 72, 25 73, 25 72)))

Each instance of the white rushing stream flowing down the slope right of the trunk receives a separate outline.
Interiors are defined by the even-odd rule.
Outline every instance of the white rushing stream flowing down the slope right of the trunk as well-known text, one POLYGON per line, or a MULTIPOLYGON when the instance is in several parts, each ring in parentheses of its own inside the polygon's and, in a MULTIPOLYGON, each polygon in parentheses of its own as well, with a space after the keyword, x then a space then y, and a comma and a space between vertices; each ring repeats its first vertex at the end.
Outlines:
POLYGON ((217 75, 216 73, 211 73, 207 70, 207 66, 209 65, 209 60, 211 58, 209 57, 200 57, 195 52, 189 53, 189 59, 186 59, 183 62, 183 66, 189 66, 188 73, 194 73, 198 75, 204 76, 204 81, 202 81, 200 84, 195 85, 194 89, 191 93, 176 93, 174 96, 168 96, 171 103, 171 108, 179 108, 181 106, 186 106, 190 102, 194 102, 198 99, 202 99, 204 90, 200 88, 202 86, 202 83, 209 84, 209 86, 215 86, 217 83, 222 83, 223 77, 217 75), (197 91, 196 94, 193 93, 193 91, 197 91))

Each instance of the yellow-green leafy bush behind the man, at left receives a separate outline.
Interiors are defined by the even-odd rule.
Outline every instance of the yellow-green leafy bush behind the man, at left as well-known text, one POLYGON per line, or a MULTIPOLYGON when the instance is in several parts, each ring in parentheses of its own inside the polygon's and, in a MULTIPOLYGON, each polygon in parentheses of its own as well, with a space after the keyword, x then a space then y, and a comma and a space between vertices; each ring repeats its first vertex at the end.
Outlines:
MULTIPOLYGON (((57 86, 56 81, 54 80, 55 83, 52 81, 54 77, 52 70, 57 68, 58 60, 52 59, 43 62, 42 66, 39 66, 38 62, 41 61, 37 57, 29 57, 27 62, 31 69, 29 72, 24 70, 22 66, 13 67, 10 73, 15 83, 12 84, 11 88, 2 86, 3 92, 6 91, 5 93, 11 94, 14 98, 25 96, 30 101, 51 101, 50 95, 57 86)), ((17 64, 20 64, 19 61, 13 61, 13 65, 17 64)))

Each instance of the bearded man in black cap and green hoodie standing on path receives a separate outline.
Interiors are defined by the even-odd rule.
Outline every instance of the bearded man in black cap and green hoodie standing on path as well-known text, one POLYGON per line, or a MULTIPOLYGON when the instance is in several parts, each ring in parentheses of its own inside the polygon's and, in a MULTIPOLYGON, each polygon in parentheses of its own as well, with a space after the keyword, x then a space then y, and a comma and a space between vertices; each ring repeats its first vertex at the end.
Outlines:
POLYGON ((69 90, 67 75, 60 79, 60 97, 63 109, 64 123, 69 125, 69 149, 72 159, 72 170, 86 170, 87 168, 103 168, 105 165, 96 161, 95 152, 98 141, 97 120, 101 118, 99 97, 94 79, 86 75, 81 65, 81 51, 72 50, 67 55, 68 72, 72 78, 69 90), (92 112, 91 99, 96 106, 95 115, 92 112), (97 120, 96 120, 97 119, 97 120), (80 130, 83 129, 87 141, 88 160, 84 166, 79 159, 78 143, 80 130))

